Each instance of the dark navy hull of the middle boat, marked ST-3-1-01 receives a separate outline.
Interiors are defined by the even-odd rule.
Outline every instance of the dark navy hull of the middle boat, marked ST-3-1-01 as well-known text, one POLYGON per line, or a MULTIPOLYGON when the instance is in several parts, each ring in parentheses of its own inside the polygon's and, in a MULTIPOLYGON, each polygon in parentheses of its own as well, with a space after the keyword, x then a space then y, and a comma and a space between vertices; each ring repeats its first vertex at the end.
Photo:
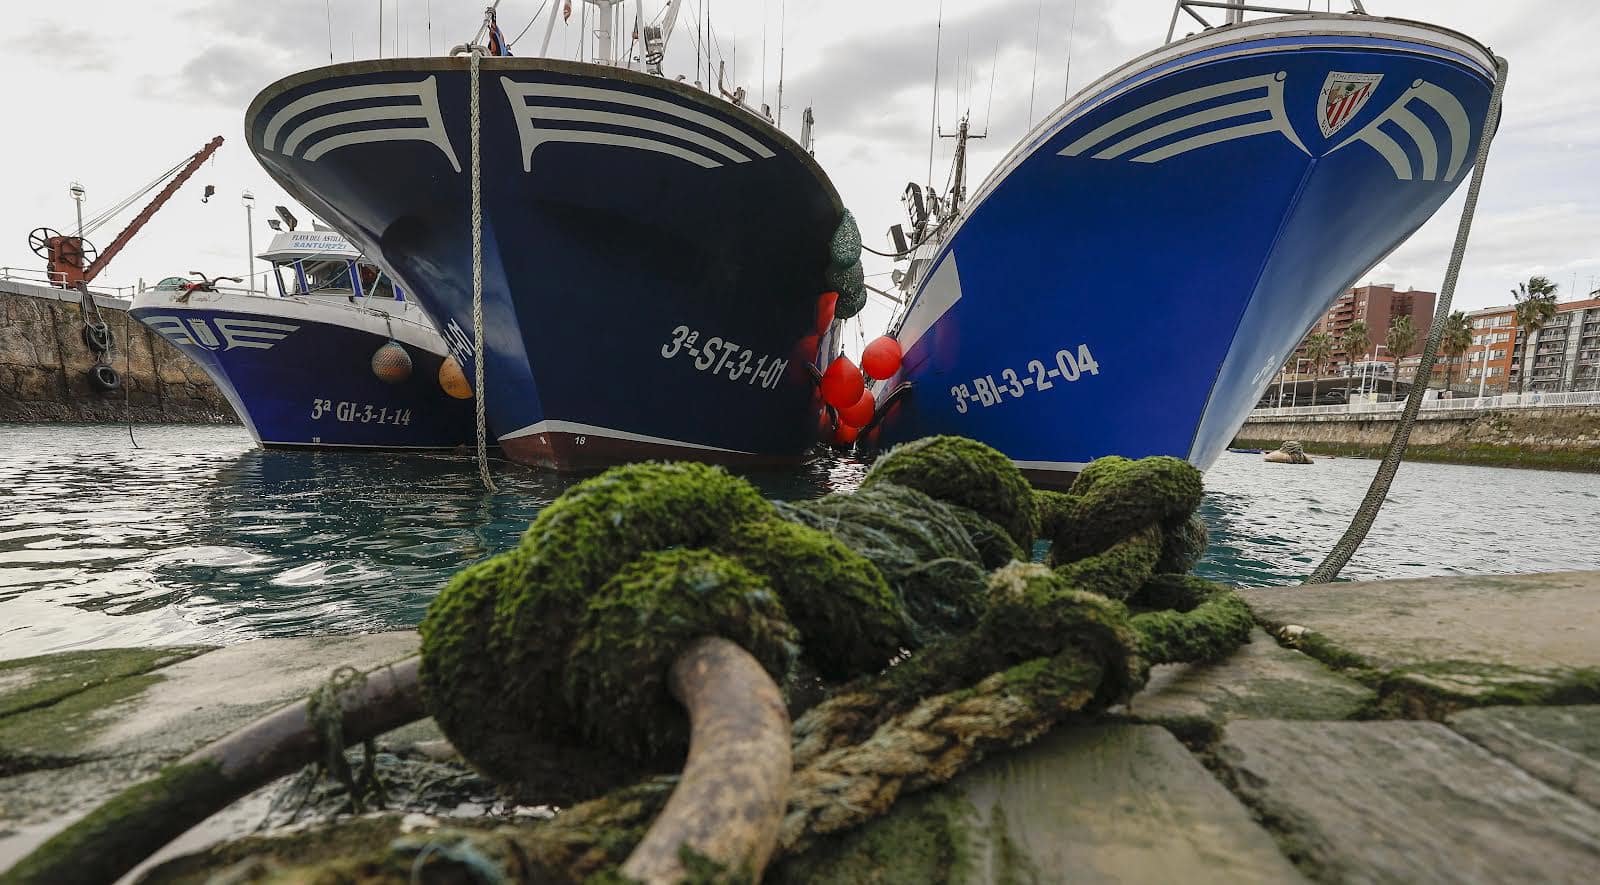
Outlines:
MULTIPOLYGON (((363 61, 274 83, 245 118, 267 173, 392 270, 469 378, 470 98, 466 58, 363 61)), ((482 59, 478 120, 501 450, 555 469, 808 458, 842 213, 810 154, 701 90, 560 59, 482 59)))

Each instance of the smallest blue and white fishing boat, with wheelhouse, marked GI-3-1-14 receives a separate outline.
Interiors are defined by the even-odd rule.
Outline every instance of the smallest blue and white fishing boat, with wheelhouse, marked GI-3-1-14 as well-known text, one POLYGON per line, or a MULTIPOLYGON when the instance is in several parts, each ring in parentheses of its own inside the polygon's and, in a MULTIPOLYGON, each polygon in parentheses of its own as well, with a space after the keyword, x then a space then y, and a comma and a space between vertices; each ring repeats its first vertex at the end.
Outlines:
POLYGON ((162 280, 131 307, 205 370, 258 445, 472 442, 472 392, 443 338, 344 237, 283 232, 259 258, 275 294, 195 274, 162 280))

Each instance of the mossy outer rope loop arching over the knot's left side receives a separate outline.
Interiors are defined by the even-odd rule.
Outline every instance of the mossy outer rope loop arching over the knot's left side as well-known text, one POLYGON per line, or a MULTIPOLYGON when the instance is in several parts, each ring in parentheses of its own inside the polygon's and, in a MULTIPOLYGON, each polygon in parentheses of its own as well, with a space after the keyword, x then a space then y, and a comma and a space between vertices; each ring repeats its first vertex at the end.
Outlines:
POLYGON ((496 600, 499 704, 534 736, 576 743, 560 671, 589 595, 643 552, 709 546, 774 515, 749 482, 706 464, 627 464, 566 490, 523 533, 522 567, 496 600))

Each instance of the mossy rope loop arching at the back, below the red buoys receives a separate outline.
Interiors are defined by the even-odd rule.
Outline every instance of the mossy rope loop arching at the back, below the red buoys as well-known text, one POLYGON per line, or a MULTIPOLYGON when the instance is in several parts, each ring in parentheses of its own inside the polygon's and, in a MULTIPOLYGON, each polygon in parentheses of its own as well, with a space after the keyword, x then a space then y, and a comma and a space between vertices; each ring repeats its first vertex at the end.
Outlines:
POLYGON ((1005 528, 1018 547, 1034 546, 1034 488, 1010 458, 981 442, 923 437, 898 445, 872 464, 861 488, 883 482, 966 507, 1005 528))

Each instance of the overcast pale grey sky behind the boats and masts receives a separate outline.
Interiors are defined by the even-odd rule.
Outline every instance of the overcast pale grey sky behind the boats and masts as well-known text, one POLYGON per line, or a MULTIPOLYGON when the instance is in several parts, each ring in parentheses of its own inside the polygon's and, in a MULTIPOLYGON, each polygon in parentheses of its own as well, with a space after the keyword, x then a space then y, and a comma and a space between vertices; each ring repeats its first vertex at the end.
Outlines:
MULTIPOLYGON (((517 37, 542 3, 504 0, 507 37, 517 37)), ((669 74, 694 67, 693 19, 701 3, 710 3, 718 56, 754 101, 762 99, 765 82, 766 101, 776 104, 782 56, 784 128, 798 131, 800 110, 814 106, 816 157, 861 219, 869 245, 883 248, 883 232, 899 221, 901 189, 928 178, 938 0, 797 0, 786 16, 779 0, 690 0, 669 45, 669 74)), ((646 0, 646 13, 659 5, 646 0)), ((1320 10, 1325 0, 1314 5, 1320 10)), ((0 29, 0 109, 6 122, 0 138, 0 264, 42 269, 26 235, 40 226, 72 229, 69 181, 85 184, 85 214, 93 216, 222 134, 227 142, 216 157, 99 282, 131 285, 190 269, 240 274, 246 259, 240 190, 250 187, 258 197, 258 251, 270 235, 264 224, 270 206, 288 202, 243 144, 245 106, 278 77, 326 64, 330 53, 334 61, 376 56, 379 6, 386 10, 382 54, 392 56, 397 48, 403 54, 443 53, 464 42, 483 3, 8 5, 0 29), (208 205, 200 202, 205 184, 218 190, 208 205)), ((576 51, 576 6, 570 26, 557 22, 552 54, 576 51)), ((1366 6, 1374 14, 1462 30, 1510 61, 1504 122, 1456 306, 1502 304, 1507 290, 1531 274, 1555 280, 1563 301, 1574 290, 1581 294, 1600 286, 1600 53, 1594 42, 1600 3, 1368 0, 1366 6)), ((970 109, 974 126, 989 133, 973 142, 970 186, 976 189, 1029 122, 1059 106, 1069 90, 1160 45, 1171 10, 1171 0, 944 3, 941 117, 952 126, 958 112, 970 109)), ((541 19, 515 51, 536 54, 542 30, 541 19)), ((949 149, 941 141, 933 160, 941 186, 949 149)), ((1466 186, 1365 278, 1437 291, 1464 195, 1466 186)), ((107 243, 130 216, 90 238, 107 243)), ((883 259, 867 264, 869 274, 886 270, 883 259)), ((869 282, 886 286, 883 275, 869 282)), ((866 315, 869 336, 886 315, 882 304, 866 315)))

